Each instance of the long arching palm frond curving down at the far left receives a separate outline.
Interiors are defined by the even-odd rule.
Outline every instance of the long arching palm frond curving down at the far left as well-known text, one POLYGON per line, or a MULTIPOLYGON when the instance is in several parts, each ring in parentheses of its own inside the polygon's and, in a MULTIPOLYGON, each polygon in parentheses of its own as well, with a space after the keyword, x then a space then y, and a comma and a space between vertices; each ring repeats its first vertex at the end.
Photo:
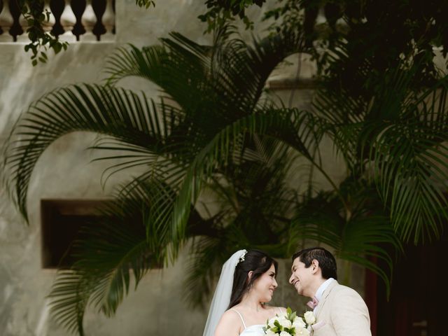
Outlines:
POLYGON ((59 137, 69 132, 96 132, 131 144, 130 151, 138 147, 142 156, 145 151, 152 155, 166 143, 168 134, 162 130, 173 126, 171 116, 159 116, 145 94, 120 88, 73 85, 46 94, 29 106, 6 147, 4 166, 10 172, 7 185, 11 192, 14 190, 13 199, 21 213, 27 218, 32 170, 43 151, 59 137))

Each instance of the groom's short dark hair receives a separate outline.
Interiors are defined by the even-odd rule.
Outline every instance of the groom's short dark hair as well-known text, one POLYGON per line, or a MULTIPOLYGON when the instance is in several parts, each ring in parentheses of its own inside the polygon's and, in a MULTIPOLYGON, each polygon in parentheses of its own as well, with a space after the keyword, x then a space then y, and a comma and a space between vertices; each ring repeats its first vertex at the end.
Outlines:
POLYGON ((299 258, 301 262, 308 268, 311 262, 316 259, 319 262, 319 267, 322 269, 323 279, 333 278, 337 280, 337 265, 335 257, 323 247, 304 248, 293 255, 293 262, 299 258))

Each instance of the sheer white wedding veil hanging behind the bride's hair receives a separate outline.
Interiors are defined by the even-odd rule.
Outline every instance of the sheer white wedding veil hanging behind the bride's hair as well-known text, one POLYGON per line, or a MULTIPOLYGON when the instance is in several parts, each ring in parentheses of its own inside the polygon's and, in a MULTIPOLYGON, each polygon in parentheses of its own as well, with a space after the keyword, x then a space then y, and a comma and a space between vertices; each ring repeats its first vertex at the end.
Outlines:
POLYGON ((207 323, 205 323, 203 336, 214 335, 216 325, 218 325, 224 311, 228 309, 230 304, 230 294, 232 293, 235 267, 237 267, 239 259, 246 253, 246 250, 239 250, 233 253, 232 256, 224 263, 223 269, 221 270, 221 276, 219 277, 218 286, 216 286, 213 300, 211 300, 209 317, 207 317, 207 323))

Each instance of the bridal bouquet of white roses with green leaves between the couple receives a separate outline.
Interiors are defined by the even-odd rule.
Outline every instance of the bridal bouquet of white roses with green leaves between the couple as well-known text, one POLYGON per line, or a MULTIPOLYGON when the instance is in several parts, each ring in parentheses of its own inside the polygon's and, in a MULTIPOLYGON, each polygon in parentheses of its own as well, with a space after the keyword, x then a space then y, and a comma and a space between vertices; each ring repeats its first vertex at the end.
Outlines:
POLYGON ((263 330, 268 336, 309 336, 311 325, 314 323, 316 323, 316 317, 312 311, 305 312, 302 318, 288 307, 286 313, 276 314, 270 318, 263 330))

